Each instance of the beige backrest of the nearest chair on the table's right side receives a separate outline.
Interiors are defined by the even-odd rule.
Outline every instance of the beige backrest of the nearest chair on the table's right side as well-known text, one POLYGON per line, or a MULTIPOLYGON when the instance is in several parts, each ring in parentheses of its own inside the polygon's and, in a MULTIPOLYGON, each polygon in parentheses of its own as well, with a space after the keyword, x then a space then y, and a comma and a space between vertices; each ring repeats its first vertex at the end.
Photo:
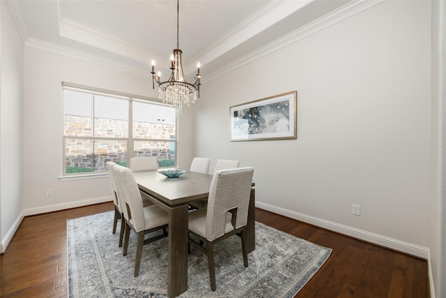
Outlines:
POLYGON ((249 195, 254 167, 218 170, 214 174, 206 213, 206 239, 213 241, 234 228, 247 224, 249 195), (227 216, 232 225, 227 226, 227 216))

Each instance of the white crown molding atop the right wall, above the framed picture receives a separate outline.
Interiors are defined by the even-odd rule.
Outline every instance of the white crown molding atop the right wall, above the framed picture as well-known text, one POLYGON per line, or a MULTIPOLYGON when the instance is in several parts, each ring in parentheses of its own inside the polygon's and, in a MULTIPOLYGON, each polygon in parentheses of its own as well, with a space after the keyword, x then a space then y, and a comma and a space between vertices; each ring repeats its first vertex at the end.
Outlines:
POLYGON ((318 31, 328 28, 333 24, 336 24, 337 22, 346 20, 348 17, 356 15, 357 13, 360 13, 363 10, 371 8, 372 6, 375 6, 376 4, 381 3, 383 1, 385 0, 362 0, 362 1, 349 2, 346 5, 341 6, 336 10, 333 10, 327 15, 323 15, 317 20, 314 20, 313 22, 310 22, 309 24, 306 24, 305 26, 300 27, 295 31, 288 33, 285 36, 282 36, 281 38, 278 38, 277 40, 274 40, 271 43, 268 43, 263 47, 259 47, 259 49, 250 52, 249 54, 246 54, 245 56, 240 57, 239 59, 232 61, 230 64, 227 64, 226 66, 220 68, 220 70, 217 70, 214 73, 206 75, 206 77, 203 77, 201 79, 201 82, 205 83, 211 80, 215 80, 217 77, 220 77, 225 73, 229 73, 230 71, 235 70, 236 68, 240 68, 241 66, 249 64, 254 60, 260 59, 261 57, 271 54, 272 52, 276 52, 277 50, 280 50, 288 45, 296 43, 299 40, 306 38, 307 36, 310 36, 314 33, 317 33, 318 31))

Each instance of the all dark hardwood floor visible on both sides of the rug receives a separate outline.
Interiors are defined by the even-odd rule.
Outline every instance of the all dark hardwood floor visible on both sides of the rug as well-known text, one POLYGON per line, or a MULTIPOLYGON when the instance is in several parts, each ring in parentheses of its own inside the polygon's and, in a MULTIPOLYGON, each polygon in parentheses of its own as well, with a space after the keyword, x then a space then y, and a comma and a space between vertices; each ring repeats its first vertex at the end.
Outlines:
MULTIPOLYGON (((113 209, 108 202, 24 218, 0 257, 0 296, 67 297, 67 219, 113 209)), ((256 221, 333 249, 296 297, 429 297, 426 260, 261 209, 256 221)))

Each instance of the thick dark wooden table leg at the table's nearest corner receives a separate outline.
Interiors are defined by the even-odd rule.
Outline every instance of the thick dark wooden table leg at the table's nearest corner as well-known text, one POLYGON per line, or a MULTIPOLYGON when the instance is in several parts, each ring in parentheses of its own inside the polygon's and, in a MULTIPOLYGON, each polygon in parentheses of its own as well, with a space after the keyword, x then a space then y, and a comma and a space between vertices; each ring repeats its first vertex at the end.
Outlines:
POLYGON ((187 291, 187 209, 187 205, 183 205, 173 207, 169 212, 169 298, 187 291))

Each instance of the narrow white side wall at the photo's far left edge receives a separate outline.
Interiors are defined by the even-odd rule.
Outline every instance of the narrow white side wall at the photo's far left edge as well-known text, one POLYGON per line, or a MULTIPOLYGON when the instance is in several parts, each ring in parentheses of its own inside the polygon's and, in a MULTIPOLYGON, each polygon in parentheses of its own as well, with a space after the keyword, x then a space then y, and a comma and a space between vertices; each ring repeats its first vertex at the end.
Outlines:
POLYGON ((0 1, 0 253, 22 214, 22 97, 24 45, 6 1, 0 1))

